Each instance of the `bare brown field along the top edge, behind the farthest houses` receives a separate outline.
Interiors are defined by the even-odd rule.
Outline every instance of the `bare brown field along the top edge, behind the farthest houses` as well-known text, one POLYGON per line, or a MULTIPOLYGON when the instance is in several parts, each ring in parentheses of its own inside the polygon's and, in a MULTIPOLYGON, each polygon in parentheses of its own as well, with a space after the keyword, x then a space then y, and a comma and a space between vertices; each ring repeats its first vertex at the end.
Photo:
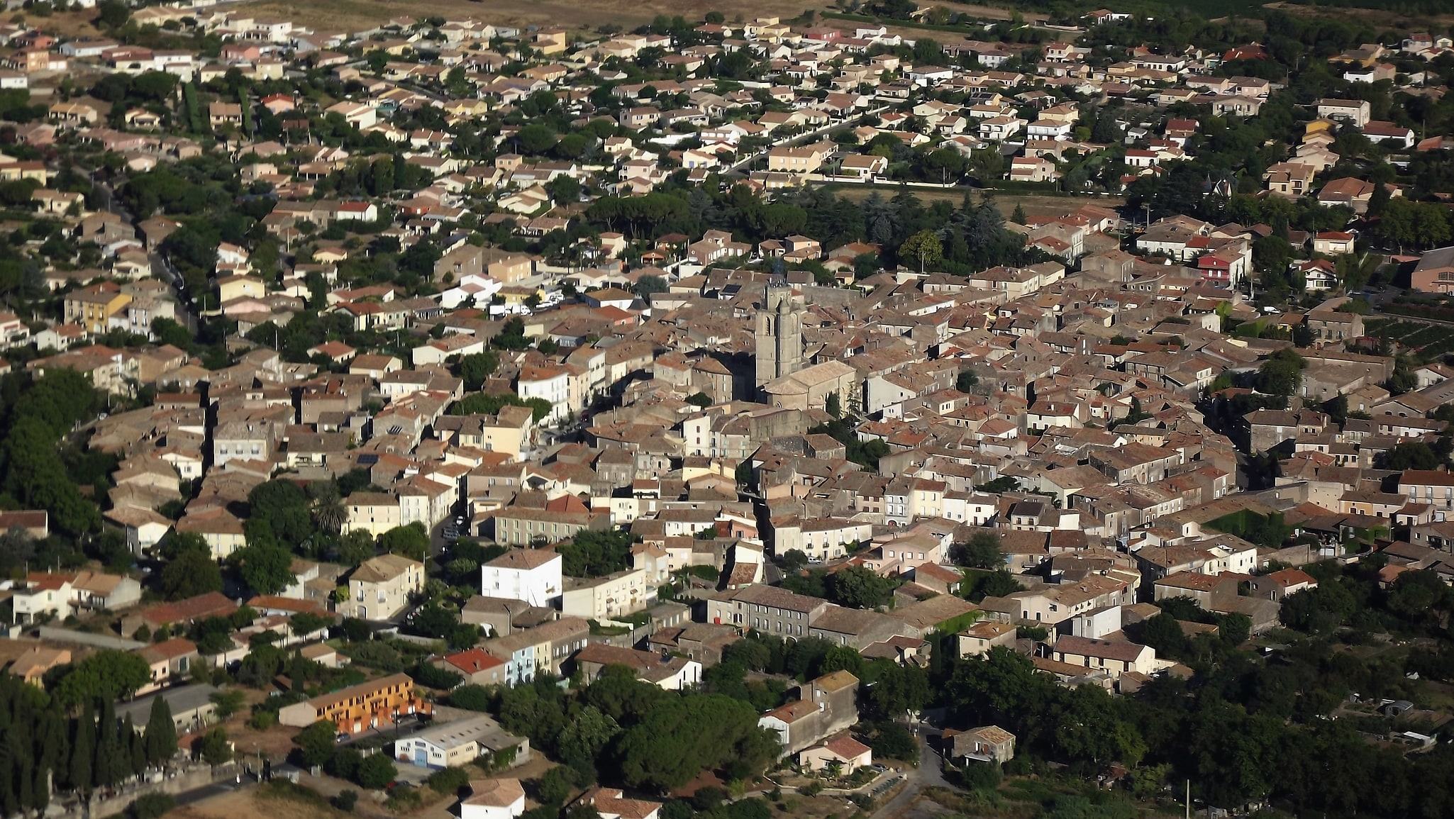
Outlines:
POLYGON ((701 20, 707 12, 721 12, 728 20, 762 16, 797 17, 804 9, 822 9, 816 0, 257 0, 243 7, 263 16, 278 16, 308 26, 352 29, 398 16, 473 16, 510 25, 595 28, 615 23, 631 28, 657 15, 680 15, 701 20))

